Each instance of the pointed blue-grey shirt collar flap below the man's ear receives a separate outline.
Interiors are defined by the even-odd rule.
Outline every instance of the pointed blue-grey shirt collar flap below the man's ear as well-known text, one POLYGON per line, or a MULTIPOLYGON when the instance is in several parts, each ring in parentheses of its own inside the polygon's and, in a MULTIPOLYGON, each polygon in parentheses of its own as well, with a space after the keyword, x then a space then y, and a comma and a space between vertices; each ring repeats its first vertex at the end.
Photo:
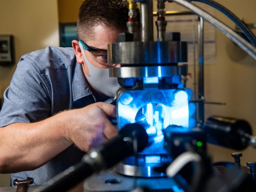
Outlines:
POLYGON ((82 65, 74 61, 72 71, 72 94, 73 101, 92 95, 92 91, 85 79, 82 65))

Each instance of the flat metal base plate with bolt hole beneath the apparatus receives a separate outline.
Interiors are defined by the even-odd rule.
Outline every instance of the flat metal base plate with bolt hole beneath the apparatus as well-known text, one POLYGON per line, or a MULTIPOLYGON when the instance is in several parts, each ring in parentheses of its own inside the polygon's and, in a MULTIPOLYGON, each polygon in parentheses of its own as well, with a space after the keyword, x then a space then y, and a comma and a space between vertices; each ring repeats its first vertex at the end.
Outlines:
MULTIPOLYGON (((146 187, 150 191, 170 192, 176 183, 172 178, 137 178, 137 187, 146 187)), ((134 178, 119 175, 113 170, 100 172, 84 181, 84 192, 124 192, 134 189, 134 178), (120 183, 110 184, 107 180, 119 180, 120 183)))

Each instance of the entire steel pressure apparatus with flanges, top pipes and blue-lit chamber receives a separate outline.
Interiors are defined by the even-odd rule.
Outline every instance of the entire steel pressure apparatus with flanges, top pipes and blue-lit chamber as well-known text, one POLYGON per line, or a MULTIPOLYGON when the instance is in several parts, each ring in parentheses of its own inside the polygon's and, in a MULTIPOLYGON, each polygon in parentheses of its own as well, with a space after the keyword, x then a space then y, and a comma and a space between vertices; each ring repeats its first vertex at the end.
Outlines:
POLYGON ((180 39, 165 41, 164 0, 158 1, 157 42, 153 41, 153 1, 140 1, 140 29, 136 28, 135 1, 129 4, 128 32, 120 34, 118 43, 108 45, 108 62, 121 64, 111 68, 110 76, 118 77, 121 88, 117 91, 117 124, 121 130, 126 124, 139 123, 149 136, 148 147, 116 166, 118 173, 128 176, 160 177, 164 172, 154 168, 170 163, 164 149, 163 130, 180 125, 179 131, 188 130, 188 94, 182 87, 181 75, 188 74, 187 43, 180 39), (140 31, 141 41, 136 41, 140 31))

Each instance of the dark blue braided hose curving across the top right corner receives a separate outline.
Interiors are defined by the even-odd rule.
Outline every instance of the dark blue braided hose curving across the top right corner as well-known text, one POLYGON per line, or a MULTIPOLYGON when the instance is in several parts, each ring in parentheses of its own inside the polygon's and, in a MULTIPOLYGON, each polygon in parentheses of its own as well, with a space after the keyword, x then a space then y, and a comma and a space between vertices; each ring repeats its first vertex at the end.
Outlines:
POLYGON ((223 5, 217 3, 213 0, 192 0, 192 1, 208 4, 212 7, 214 7, 215 9, 219 10, 220 12, 224 13, 229 19, 231 19, 244 32, 244 34, 252 42, 254 47, 256 47, 256 37, 255 37, 255 35, 246 26, 246 24, 242 20, 240 20, 233 12, 231 12, 226 7, 224 7, 223 5))

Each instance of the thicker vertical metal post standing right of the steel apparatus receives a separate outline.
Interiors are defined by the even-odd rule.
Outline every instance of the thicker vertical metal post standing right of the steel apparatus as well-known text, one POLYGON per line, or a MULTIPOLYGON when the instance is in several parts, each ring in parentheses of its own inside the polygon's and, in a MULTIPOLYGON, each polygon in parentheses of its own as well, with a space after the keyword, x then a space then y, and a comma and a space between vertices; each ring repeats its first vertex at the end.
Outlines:
MULTIPOLYGON (((198 21, 198 99, 204 101, 204 20, 198 21)), ((204 102, 198 103, 198 120, 204 123, 204 102)))

